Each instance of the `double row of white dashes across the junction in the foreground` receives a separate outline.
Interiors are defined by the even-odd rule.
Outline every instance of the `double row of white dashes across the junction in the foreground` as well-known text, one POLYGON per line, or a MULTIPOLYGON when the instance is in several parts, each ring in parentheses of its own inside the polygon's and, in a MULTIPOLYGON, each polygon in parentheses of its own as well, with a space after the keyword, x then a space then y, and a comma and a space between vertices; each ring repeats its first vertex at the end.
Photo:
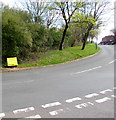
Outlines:
MULTIPOLYGON (((113 89, 116 89, 116 87, 114 87, 113 89)), ((105 94, 106 92, 111 92, 111 91, 113 91, 113 90, 106 89, 106 90, 101 91, 100 93, 105 94)), ((98 95, 99 94, 97 94, 97 93, 92 93, 92 94, 85 95, 85 97, 86 98, 92 98, 92 97, 95 97, 95 96, 98 96, 98 95)), ((110 95, 110 96, 111 97, 104 97, 102 99, 97 99, 97 100, 95 100, 95 102, 104 103, 104 102, 107 102, 107 101, 116 97, 114 95, 110 95)), ((75 98, 67 99, 66 102, 71 103, 71 102, 78 101, 78 100, 80 101, 82 99, 80 97, 75 97, 75 98)), ((58 106, 58 105, 61 105, 61 103, 60 102, 49 103, 49 104, 42 105, 42 107, 43 108, 48 108, 48 107, 53 107, 53 106, 58 106)), ((81 109, 81 108, 86 108, 89 105, 93 106, 94 103, 92 103, 92 102, 81 103, 81 104, 77 104, 75 107, 81 109)), ((18 113, 22 113, 22 112, 30 112, 30 111, 33 111, 33 110, 35 110, 34 107, 29 107, 29 108, 14 110, 13 113, 18 114, 18 113)), ((54 116, 54 115, 57 115, 61 112, 66 112, 66 111, 64 111, 63 109, 58 109, 58 110, 49 112, 49 114, 54 116)), ((0 119, 3 118, 3 117, 5 117, 5 113, 0 113, 0 119)), ((28 116, 28 117, 25 117, 25 118, 41 118, 41 116, 39 114, 36 114, 36 115, 28 116)))

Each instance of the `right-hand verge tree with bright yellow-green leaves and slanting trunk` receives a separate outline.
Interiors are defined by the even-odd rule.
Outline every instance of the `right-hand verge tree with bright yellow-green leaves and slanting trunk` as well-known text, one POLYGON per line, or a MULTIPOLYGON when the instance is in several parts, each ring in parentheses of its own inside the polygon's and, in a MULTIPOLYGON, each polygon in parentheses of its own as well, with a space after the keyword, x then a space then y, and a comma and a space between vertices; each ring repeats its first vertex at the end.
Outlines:
POLYGON ((101 25, 101 16, 104 13, 105 7, 109 2, 83 2, 82 9, 76 13, 74 22, 80 24, 81 28, 84 28, 82 34, 82 50, 84 50, 89 33, 95 26, 101 25))

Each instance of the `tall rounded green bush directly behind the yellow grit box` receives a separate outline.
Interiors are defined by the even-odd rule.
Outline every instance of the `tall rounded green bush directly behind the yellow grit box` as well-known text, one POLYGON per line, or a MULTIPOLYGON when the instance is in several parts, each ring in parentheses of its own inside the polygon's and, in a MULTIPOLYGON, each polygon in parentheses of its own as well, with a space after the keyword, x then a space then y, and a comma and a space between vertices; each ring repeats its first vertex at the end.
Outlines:
POLYGON ((2 14, 2 56, 3 61, 7 57, 19 57, 19 59, 28 56, 32 38, 27 31, 24 21, 19 17, 15 9, 4 7, 2 14))

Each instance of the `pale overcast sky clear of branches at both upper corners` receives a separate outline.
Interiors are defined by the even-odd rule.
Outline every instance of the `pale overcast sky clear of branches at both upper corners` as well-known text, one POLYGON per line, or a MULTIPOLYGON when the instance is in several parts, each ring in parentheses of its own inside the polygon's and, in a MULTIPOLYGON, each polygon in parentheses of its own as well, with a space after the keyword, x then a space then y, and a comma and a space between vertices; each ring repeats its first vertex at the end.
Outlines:
MULTIPOLYGON (((0 2, 3 2, 6 5, 16 6, 15 3, 17 3, 17 5, 21 7, 20 2, 18 1, 20 0, 0 0, 0 2)), ((110 10, 110 9, 114 8, 114 2, 116 0, 109 0, 109 1, 110 1, 110 5, 108 6, 107 14, 103 16, 103 20, 105 21, 105 23, 104 26, 100 28, 100 34, 98 35, 98 40, 97 40, 98 42, 100 42, 103 37, 107 35, 111 35, 112 33, 110 30, 114 28, 114 10, 110 10)))

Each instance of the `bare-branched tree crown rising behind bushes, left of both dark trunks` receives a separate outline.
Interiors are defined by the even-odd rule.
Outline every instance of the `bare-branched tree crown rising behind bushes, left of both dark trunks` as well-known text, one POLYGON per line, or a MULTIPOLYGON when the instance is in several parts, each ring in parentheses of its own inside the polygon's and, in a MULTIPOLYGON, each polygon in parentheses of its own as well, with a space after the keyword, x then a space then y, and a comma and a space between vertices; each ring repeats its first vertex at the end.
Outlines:
POLYGON ((47 28, 53 26, 58 20, 57 11, 54 10, 54 2, 49 0, 25 0, 21 4, 30 15, 35 23, 43 23, 47 28))

